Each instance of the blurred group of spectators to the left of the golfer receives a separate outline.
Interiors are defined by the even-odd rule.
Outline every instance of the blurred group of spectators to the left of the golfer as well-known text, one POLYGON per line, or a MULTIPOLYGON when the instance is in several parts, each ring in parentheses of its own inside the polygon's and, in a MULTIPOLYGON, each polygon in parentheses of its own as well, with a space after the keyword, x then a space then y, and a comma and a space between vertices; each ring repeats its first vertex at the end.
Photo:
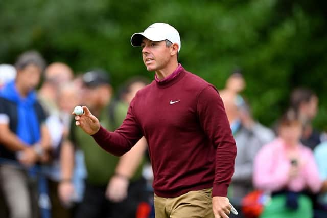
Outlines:
POLYGON ((1 64, 0 217, 153 217, 146 140, 115 157, 72 117, 86 105, 114 130, 148 83, 130 78, 114 92, 109 72, 74 74, 36 51, 1 64))

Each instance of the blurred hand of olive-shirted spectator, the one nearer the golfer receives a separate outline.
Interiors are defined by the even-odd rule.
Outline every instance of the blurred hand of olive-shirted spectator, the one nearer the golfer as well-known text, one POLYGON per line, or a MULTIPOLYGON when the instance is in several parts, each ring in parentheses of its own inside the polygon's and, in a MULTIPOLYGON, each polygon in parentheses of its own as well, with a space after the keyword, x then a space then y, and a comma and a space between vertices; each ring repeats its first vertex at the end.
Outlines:
POLYGON ((121 202, 127 197, 129 180, 121 176, 113 176, 106 190, 106 198, 113 202, 121 202))

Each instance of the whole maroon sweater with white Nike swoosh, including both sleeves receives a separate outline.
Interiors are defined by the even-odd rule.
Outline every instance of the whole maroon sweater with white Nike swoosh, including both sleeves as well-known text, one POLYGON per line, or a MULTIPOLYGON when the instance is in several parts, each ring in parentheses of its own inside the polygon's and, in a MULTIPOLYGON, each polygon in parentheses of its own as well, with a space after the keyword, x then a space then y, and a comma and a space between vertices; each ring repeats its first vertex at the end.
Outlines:
POLYGON ((154 80, 138 91, 115 132, 101 127, 93 137, 120 156, 144 135, 159 197, 209 187, 213 196, 226 196, 236 145, 223 102, 212 84, 181 66, 176 71, 172 79, 154 80))

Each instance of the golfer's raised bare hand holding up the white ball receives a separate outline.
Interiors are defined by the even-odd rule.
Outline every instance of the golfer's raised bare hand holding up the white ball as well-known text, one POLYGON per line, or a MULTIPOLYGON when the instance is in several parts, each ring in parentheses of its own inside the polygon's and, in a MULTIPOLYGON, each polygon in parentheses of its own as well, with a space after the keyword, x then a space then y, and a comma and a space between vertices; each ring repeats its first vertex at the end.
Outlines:
POLYGON ((100 122, 96 116, 91 114, 86 106, 83 106, 83 110, 84 114, 82 115, 76 115, 74 112, 72 113, 75 115, 75 124, 80 126, 85 133, 93 135, 99 131, 100 122))

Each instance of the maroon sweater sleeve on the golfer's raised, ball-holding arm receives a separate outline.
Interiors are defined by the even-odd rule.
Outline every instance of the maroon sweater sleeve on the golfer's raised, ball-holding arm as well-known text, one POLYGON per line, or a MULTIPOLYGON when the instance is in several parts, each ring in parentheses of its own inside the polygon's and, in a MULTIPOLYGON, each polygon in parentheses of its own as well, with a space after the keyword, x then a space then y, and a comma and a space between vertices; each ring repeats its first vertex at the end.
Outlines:
POLYGON ((92 135, 100 147, 115 156, 124 155, 143 136, 133 114, 133 105, 134 100, 130 103, 125 120, 117 130, 110 132, 101 126, 100 130, 92 135))

